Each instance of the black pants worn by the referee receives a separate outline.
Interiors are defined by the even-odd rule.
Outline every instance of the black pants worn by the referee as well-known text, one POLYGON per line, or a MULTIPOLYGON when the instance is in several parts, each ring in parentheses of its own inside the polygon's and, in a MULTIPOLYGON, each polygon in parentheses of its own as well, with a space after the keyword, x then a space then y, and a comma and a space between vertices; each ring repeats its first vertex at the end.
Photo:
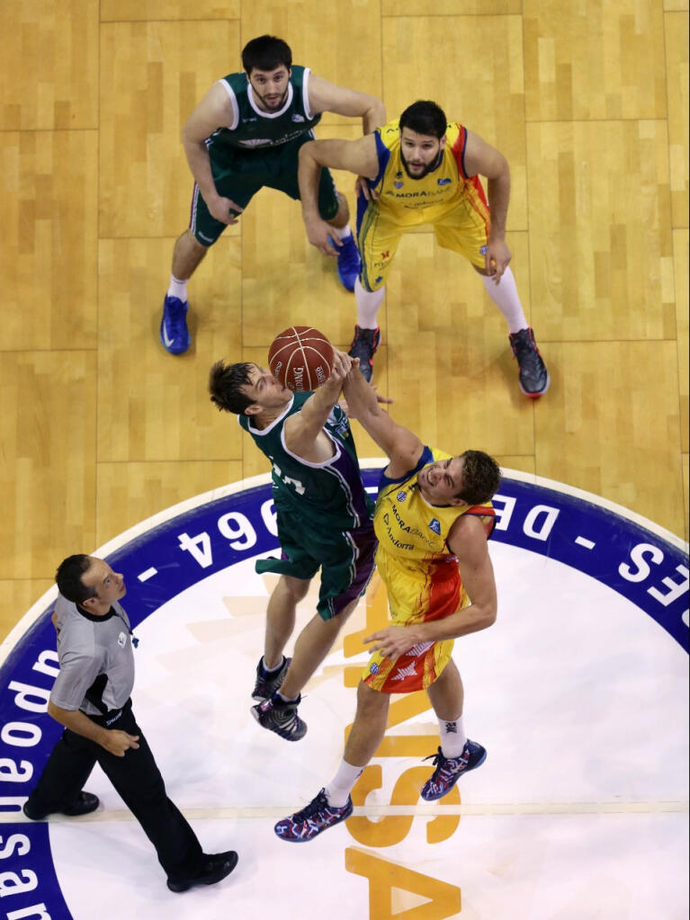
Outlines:
POLYGON ((201 871, 201 845, 178 807, 167 798, 166 785, 154 755, 134 719, 132 701, 127 701, 114 720, 113 715, 89 716, 89 719, 103 726, 107 719, 107 728, 139 735, 139 747, 130 748, 124 757, 116 757, 100 744, 65 729, 29 796, 29 809, 47 814, 68 808, 78 798, 98 762, 155 846, 158 862, 168 879, 193 879, 201 871))

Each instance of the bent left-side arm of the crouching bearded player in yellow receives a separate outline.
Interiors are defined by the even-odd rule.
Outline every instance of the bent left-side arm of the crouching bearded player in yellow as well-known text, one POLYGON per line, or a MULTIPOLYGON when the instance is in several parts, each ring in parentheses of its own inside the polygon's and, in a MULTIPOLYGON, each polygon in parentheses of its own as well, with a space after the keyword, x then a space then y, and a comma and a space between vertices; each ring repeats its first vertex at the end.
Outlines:
POLYGON ((376 178, 378 156, 374 135, 367 134, 358 141, 309 141, 300 147, 297 177, 307 239, 327 256, 337 256, 336 247, 328 241, 332 229, 318 213, 321 167, 346 169, 355 176, 376 178))

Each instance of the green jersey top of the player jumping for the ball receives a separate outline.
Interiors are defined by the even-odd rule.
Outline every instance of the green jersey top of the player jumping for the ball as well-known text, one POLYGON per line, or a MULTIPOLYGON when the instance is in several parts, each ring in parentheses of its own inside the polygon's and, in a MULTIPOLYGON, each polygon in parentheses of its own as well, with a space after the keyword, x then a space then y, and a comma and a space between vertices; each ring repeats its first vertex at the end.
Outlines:
POLYGON ((318 530, 353 530, 372 519, 374 502, 364 491, 350 421, 335 406, 324 425, 334 454, 325 463, 310 463, 285 446, 285 421, 304 406, 311 393, 295 393, 293 401, 268 428, 251 426, 251 417, 238 416, 242 428, 273 466, 273 500, 281 512, 293 512, 295 525, 318 530))

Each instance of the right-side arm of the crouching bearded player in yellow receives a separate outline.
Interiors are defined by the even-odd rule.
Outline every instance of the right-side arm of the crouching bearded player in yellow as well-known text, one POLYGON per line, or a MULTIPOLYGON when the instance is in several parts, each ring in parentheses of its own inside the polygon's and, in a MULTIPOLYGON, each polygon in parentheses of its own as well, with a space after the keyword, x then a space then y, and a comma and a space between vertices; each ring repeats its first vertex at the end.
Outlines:
POLYGON ((465 167, 468 176, 486 176, 491 229, 487 245, 486 267, 495 282, 508 268, 512 259, 511 250, 505 241, 505 226, 508 217, 508 202, 511 199, 511 168, 500 151, 478 134, 467 132, 465 167))

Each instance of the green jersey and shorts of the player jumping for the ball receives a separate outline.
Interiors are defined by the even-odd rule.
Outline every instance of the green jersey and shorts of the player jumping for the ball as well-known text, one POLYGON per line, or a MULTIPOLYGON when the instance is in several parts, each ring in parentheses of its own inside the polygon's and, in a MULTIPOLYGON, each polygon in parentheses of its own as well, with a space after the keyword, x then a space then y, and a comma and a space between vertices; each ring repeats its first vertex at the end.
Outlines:
POLYGON ((329 619, 364 592, 374 571, 374 503, 364 491, 350 422, 339 406, 324 425, 333 444, 327 461, 303 460, 285 445, 285 421, 310 396, 295 393, 282 415, 264 429, 253 428, 247 415, 238 419, 272 465, 282 558, 259 559, 256 569, 308 580, 320 568, 316 609, 329 619))

